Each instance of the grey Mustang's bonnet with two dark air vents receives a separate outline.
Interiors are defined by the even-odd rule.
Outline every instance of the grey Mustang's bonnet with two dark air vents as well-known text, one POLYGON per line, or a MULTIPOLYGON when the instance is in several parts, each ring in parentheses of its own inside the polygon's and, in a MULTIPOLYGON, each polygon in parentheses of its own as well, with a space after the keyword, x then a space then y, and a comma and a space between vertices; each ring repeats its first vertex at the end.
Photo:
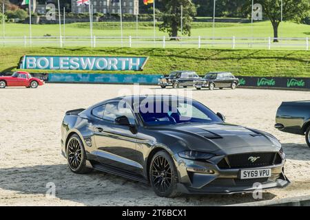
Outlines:
POLYGON ((180 124, 158 127, 157 131, 182 140, 194 151, 231 153, 236 148, 241 152, 279 150, 279 146, 271 142, 273 137, 234 124, 180 124))

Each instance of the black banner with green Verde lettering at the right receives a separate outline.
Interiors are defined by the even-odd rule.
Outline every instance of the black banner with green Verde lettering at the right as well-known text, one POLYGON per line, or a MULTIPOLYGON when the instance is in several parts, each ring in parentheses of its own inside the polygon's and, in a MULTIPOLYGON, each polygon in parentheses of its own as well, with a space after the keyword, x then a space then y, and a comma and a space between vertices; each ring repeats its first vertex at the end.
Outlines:
POLYGON ((310 89, 310 78, 236 76, 242 87, 310 89))

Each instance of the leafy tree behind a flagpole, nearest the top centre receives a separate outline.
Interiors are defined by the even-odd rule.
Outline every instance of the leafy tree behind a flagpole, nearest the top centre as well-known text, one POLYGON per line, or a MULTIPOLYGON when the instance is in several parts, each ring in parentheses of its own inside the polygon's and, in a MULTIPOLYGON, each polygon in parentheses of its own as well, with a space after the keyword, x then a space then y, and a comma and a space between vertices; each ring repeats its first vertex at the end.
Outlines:
POLYGON ((196 8, 191 0, 162 0, 163 23, 159 25, 159 30, 168 32, 169 36, 178 36, 180 30, 181 5, 183 5, 183 33, 191 35, 191 22, 196 15, 196 8))

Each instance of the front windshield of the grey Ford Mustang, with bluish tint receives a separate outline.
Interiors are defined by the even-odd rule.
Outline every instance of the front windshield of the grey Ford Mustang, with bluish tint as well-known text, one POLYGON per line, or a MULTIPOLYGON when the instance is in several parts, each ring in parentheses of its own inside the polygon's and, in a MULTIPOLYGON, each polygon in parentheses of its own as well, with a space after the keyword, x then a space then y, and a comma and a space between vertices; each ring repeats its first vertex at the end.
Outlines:
POLYGON ((195 100, 157 99, 143 100, 138 106, 146 126, 223 122, 213 111, 195 100))

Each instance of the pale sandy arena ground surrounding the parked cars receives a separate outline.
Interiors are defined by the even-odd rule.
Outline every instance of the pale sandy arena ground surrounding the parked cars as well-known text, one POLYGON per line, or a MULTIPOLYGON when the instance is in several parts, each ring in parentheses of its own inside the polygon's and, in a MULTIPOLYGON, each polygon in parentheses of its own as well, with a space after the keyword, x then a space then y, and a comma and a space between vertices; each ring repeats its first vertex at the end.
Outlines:
POLYGON ((136 181, 94 172, 70 172, 60 151, 60 126, 65 111, 123 94, 176 94, 192 96, 227 122, 272 133, 280 139, 291 185, 268 190, 262 199, 310 195, 310 148, 304 137, 273 128, 282 101, 309 100, 307 91, 223 89, 196 91, 158 89, 156 86, 47 84, 38 89, 0 91, 0 205, 1 206, 218 206, 255 201, 251 194, 157 197, 136 181), (139 89, 139 91, 138 91, 139 89), (46 197, 48 183, 56 197, 46 197))

